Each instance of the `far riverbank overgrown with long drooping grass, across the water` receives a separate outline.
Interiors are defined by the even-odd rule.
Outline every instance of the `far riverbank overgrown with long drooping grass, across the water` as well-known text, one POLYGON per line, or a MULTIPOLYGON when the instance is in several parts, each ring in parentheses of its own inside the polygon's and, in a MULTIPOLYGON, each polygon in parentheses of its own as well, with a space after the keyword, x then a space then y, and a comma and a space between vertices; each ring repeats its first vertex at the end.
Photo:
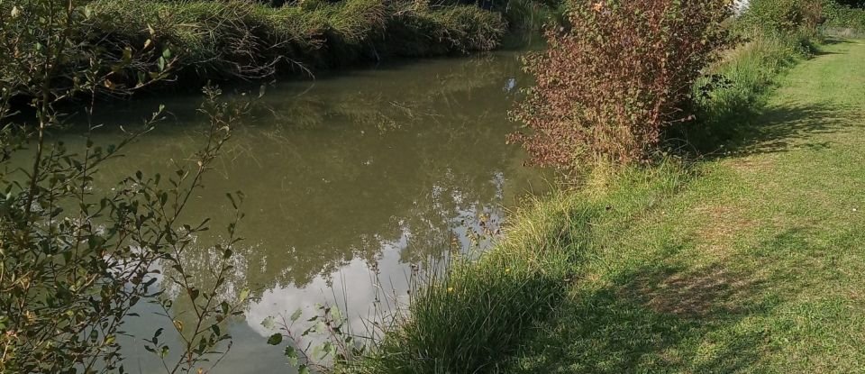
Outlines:
POLYGON ((533 2, 498 3, 484 9, 382 0, 278 6, 243 0, 96 0, 89 9, 101 44, 158 44, 177 59, 178 80, 205 82, 309 76, 383 59, 494 50, 505 33, 537 27, 540 21, 533 17, 549 9, 533 2))

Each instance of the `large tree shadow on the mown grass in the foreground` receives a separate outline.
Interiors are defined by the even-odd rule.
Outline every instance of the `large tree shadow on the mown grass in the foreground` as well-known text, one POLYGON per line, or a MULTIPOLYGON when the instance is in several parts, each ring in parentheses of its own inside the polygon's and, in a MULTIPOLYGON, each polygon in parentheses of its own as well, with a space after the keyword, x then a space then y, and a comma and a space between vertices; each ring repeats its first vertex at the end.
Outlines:
MULTIPOLYGON (((814 269, 814 253, 782 260, 779 252, 803 248, 806 236, 800 229, 777 233, 702 267, 665 263, 659 256, 605 281, 605 287, 584 287, 589 289, 570 296, 538 329, 514 371, 760 371, 761 359, 773 349, 761 317, 808 287, 798 280, 799 270, 814 269), (778 261, 783 264, 776 266, 778 261)), ((691 245, 670 243, 662 251, 691 245)))

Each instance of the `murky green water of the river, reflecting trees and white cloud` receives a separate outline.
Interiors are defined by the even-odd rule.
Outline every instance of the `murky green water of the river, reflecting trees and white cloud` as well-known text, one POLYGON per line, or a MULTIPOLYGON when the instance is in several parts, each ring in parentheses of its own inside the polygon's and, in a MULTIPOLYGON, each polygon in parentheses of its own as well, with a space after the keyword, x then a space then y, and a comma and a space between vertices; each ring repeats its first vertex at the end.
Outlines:
MULTIPOLYGON (((187 210, 188 222, 214 218, 211 233, 218 234, 231 214, 225 193, 247 196, 246 240, 226 295, 250 288, 257 300, 245 320, 230 324, 232 351, 213 372, 290 372, 282 350, 266 344, 265 317, 298 307, 312 315, 315 303, 336 299, 347 302, 351 324, 360 327, 377 292, 405 295, 410 264, 442 257, 452 243, 467 251, 480 222, 495 228, 518 196, 546 186, 522 166, 519 147, 505 143, 516 129, 507 111, 525 84, 518 55, 416 61, 269 88, 260 103, 267 110, 237 129, 187 210)), ((200 101, 168 97, 111 108, 107 123, 136 123, 158 103, 172 114, 107 165, 97 187, 136 169, 170 173, 172 160, 201 144, 200 101)), ((99 133, 96 142, 117 136, 99 133)), ((216 261, 209 245, 203 239, 189 254, 202 278, 216 261)), ((166 325, 142 312, 130 333, 150 337, 166 325)), ((159 372, 140 340, 126 346, 127 369, 159 372)))

